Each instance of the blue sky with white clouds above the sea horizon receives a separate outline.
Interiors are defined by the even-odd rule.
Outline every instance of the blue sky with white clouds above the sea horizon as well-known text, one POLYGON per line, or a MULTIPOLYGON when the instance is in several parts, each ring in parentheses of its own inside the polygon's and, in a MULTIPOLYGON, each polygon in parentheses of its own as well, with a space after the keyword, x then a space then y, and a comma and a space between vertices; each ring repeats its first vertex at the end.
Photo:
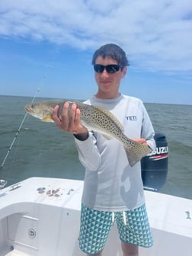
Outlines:
POLYGON ((122 94, 192 104, 191 0, 1 1, 0 94, 90 98, 105 43, 129 59, 122 94))

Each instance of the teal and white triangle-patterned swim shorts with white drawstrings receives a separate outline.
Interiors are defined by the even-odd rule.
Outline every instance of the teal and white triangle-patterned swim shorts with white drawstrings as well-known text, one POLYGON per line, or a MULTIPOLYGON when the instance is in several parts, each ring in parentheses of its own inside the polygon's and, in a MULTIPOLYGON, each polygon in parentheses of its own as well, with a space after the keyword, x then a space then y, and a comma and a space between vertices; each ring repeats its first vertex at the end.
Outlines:
POLYGON ((117 222, 120 240, 142 247, 152 246, 152 232, 146 205, 124 212, 103 212, 82 205, 79 247, 86 254, 97 254, 104 249, 110 229, 117 222))

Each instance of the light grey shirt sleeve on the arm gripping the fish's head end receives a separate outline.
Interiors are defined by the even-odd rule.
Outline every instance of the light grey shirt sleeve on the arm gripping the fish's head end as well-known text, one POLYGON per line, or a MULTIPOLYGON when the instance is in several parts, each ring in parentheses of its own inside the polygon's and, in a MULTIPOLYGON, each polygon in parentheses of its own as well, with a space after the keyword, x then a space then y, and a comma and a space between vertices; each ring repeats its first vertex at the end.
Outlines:
POLYGON ((78 149, 78 158, 82 165, 90 171, 97 171, 101 164, 101 155, 98 151, 94 133, 89 131, 88 139, 84 141, 75 138, 75 144, 78 149))

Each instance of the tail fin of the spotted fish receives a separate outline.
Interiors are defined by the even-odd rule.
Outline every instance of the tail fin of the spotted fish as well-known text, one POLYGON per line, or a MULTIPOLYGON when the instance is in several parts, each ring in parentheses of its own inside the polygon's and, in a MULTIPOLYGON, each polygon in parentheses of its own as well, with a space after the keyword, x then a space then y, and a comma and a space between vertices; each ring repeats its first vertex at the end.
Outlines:
MULTIPOLYGON (((134 141, 133 141, 134 142, 134 141)), ((128 158, 128 161, 130 163, 130 166, 133 167, 133 165, 136 165, 137 162, 139 162, 144 156, 148 155, 150 152, 152 152, 152 149, 149 148, 149 146, 142 145, 138 142, 135 142, 135 149, 130 150, 126 149, 126 156, 128 158)))

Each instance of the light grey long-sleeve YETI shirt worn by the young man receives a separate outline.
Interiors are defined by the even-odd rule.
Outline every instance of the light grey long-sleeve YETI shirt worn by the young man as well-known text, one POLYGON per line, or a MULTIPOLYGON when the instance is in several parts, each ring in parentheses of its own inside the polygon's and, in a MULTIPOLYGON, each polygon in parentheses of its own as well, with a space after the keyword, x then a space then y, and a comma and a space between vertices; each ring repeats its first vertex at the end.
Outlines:
MULTIPOLYGON (((120 94, 114 99, 93 97, 85 104, 110 110, 130 139, 145 138, 155 149, 154 130, 146 108, 138 98, 120 94)), ((106 139, 89 131, 88 139, 75 139, 78 157, 85 166, 82 203, 94 210, 123 211, 145 203, 140 162, 130 166, 125 149, 117 139, 106 139)))

